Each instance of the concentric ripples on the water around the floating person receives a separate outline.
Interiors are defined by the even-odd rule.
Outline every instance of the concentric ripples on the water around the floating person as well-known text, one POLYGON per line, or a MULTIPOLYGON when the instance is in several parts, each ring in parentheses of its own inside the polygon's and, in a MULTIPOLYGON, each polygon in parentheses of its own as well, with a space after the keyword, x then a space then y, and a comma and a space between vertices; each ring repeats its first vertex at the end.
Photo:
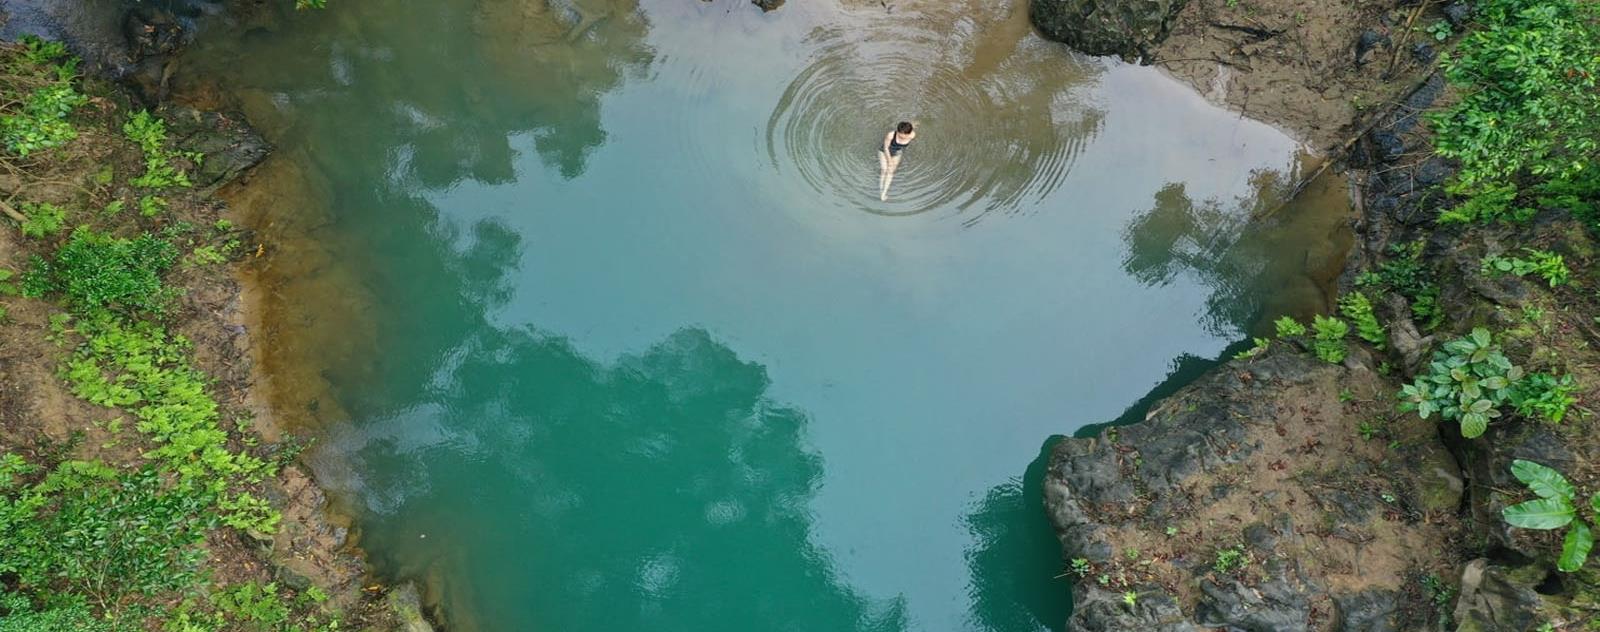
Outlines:
POLYGON ((1099 131, 1101 112, 1075 90, 1093 80, 1090 69, 1026 29, 907 26, 918 19, 848 29, 848 40, 818 35, 768 118, 768 158, 824 200, 883 216, 941 210, 971 224, 1034 208, 1099 131), (878 147, 901 120, 917 125, 917 139, 880 202, 878 147))

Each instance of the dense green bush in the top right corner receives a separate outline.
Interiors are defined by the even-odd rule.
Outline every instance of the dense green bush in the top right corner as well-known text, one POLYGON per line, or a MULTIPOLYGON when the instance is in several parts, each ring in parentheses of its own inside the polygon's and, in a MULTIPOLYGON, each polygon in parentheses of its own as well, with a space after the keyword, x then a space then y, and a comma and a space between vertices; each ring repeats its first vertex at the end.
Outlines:
MULTIPOLYGON (((1432 117, 1435 147, 1461 163, 1467 202, 1442 221, 1515 219, 1518 182, 1592 179, 1600 150, 1600 10, 1586 0, 1480 0, 1446 77, 1461 101, 1432 117)), ((1542 184, 1539 184, 1542 186, 1542 184)))

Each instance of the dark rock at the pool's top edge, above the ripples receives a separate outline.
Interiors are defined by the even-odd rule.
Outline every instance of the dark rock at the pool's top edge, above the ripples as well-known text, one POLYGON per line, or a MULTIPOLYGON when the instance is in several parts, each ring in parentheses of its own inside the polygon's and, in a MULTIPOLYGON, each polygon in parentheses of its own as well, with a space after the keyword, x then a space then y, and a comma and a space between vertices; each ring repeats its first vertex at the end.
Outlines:
POLYGON ((1088 54, 1149 59, 1189 0, 1030 0, 1040 34, 1088 54))

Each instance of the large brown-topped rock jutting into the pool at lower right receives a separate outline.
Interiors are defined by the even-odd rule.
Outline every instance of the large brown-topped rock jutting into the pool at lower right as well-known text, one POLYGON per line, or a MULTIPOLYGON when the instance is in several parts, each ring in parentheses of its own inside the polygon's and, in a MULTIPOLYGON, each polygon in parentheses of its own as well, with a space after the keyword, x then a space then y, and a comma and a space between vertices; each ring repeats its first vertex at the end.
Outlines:
POLYGON ((1045 506, 1078 576, 1067 629, 1414 629, 1414 573, 1456 574, 1461 478, 1432 421, 1390 418, 1370 362, 1275 342, 1142 422, 1058 443, 1045 506))

